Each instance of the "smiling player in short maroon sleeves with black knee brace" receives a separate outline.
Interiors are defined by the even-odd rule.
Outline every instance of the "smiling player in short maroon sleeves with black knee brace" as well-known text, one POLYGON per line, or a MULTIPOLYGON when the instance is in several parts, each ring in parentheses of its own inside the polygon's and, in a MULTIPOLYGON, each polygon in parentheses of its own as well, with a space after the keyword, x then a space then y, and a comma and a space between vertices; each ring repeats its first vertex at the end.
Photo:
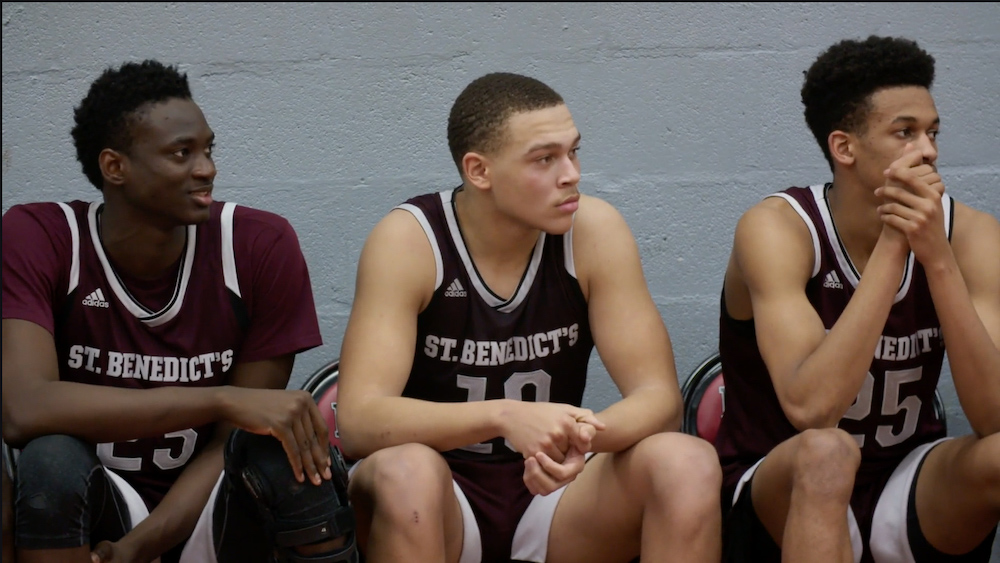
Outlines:
POLYGON ((350 560, 346 469, 285 390, 321 343, 291 225, 214 201, 215 135, 175 67, 107 69, 75 122, 102 201, 3 216, 19 561, 350 560))

